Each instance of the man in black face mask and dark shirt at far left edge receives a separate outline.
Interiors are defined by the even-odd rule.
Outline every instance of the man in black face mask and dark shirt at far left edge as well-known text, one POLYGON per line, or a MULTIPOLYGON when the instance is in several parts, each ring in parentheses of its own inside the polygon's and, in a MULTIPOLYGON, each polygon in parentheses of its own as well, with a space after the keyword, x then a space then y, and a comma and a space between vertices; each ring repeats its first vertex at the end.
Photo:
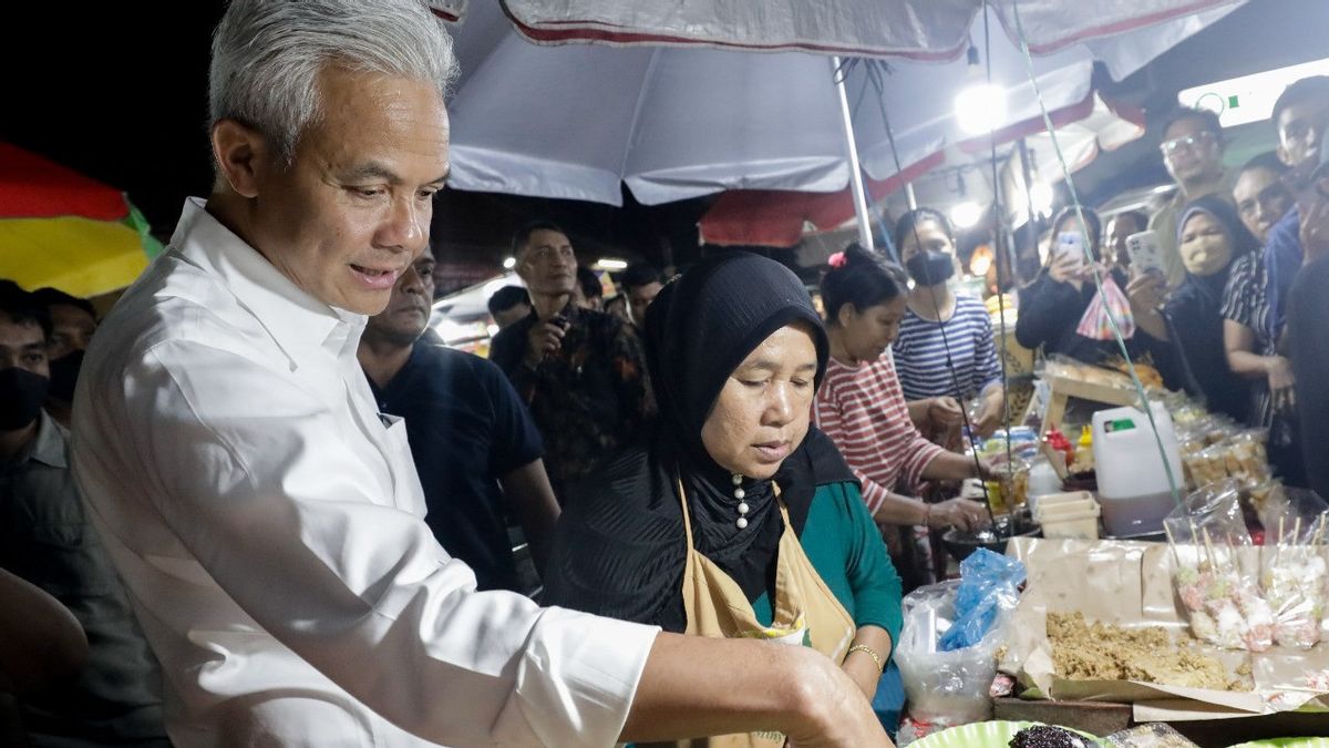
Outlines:
POLYGON ((0 281, 0 568, 62 603, 88 636, 70 681, 24 695, 33 745, 169 745, 161 673, 69 474, 69 431, 41 406, 51 321, 0 281))

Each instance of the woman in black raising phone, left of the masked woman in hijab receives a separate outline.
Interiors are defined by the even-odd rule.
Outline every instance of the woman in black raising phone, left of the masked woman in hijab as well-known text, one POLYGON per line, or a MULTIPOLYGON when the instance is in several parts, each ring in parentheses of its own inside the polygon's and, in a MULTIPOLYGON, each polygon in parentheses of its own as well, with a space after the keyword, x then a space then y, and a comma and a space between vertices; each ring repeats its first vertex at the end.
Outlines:
POLYGON ((1100 264, 1103 295, 1098 293, 1092 269, 1080 248, 1084 234, 1080 232, 1075 206, 1066 206, 1053 220, 1053 249, 1047 253, 1047 265, 1034 282, 1019 291, 1015 339, 1030 350, 1042 346, 1046 357, 1061 354, 1096 365, 1119 357, 1122 350, 1108 323, 1108 314, 1115 315, 1132 355, 1135 323, 1123 291, 1126 274, 1103 264, 1102 221, 1090 208, 1080 208, 1080 212, 1088 230, 1090 254, 1100 264))

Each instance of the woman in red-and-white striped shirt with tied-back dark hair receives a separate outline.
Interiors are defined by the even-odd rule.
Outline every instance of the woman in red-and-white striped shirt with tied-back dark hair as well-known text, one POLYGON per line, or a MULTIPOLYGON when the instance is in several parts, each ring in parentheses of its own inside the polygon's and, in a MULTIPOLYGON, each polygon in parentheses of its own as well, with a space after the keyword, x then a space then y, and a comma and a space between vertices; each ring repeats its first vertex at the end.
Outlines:
MULTIPOLYGON (((832 257, 821 280, 831 362, 812 418, 863 483, 868 511, 888 528, 892 558, 905 587, 913 588, 929 582, 913 547, 913 527, 971 530, 986 522, 987 512, 969 499, 929 504, 897 492, 917 491, 924 480, 962 480, 978 474, 973 459, 929 442, 909 419, 886 353, 905 315, 905 287, 900 268, 857 245, 832 257)), ((983 476, 990 476, 986 466, 983 476)))

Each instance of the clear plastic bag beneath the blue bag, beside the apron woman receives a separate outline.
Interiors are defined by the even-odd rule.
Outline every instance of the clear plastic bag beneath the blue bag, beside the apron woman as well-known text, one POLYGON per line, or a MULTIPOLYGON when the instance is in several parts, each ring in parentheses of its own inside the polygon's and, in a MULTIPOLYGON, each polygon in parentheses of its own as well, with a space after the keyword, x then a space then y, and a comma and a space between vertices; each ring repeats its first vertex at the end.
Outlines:
POLYGON ((1005 636, 1009 611, 998 608, 997 620, 973 647, 942 652, 941 636, 956 620, 960 580, 920 587, 901 603, 904 628, 894 659, 909 697, 909 716, 932 729, 981 721, 991 713, 997 648, 1005 636))

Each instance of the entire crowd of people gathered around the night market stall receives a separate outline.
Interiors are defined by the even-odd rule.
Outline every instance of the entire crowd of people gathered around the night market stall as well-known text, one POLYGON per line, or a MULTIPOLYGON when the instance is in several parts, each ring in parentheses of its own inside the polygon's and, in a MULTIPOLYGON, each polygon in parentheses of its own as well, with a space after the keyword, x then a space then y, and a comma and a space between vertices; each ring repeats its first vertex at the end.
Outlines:
MULTIPOLYGON (((989 520, 964 437, 1009 415, 954 229, 906 213, 900 265, 851 245, 817 306, 743 252, 606 299, 533 221, 461 353, 429 329, 453 68, 417 3, 235 0, 169 252, 104 319, 0 282, 0 740, 889 744, 921 538, 989 520)), ((1179 112, 1175 196, 1062 210, 1015 339, 1151 361, 1329 495, 1326 125, 1298 81, 1229 173, 1179 112)))

